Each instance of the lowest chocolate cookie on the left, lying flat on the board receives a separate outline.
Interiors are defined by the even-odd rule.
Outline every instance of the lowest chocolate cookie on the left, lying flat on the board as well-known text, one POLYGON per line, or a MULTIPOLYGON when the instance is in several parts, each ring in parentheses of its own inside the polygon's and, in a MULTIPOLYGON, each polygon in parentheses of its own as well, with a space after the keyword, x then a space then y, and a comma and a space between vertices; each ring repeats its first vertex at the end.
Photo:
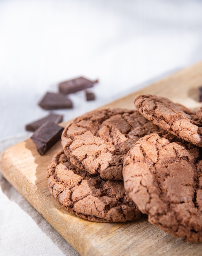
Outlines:
POLYGON ((51 195, 61 206, 95 222, 126 222, 141 213, 125 191, 123 181, 103 180, 73 166, 64 152, 55 154, 48 167, 51 195))

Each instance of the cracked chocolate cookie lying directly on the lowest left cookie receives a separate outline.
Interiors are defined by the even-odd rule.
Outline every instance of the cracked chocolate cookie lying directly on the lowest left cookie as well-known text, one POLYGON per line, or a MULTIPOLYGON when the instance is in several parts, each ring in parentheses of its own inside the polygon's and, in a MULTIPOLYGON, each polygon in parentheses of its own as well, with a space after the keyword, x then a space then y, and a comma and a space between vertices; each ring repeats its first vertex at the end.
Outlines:
POLYGON ((71 163, 104 179, 122 180, 123 159, 142 136, 160 128, 138 111, 114 108, 88 112, 62 133, 64 153, 71 163))

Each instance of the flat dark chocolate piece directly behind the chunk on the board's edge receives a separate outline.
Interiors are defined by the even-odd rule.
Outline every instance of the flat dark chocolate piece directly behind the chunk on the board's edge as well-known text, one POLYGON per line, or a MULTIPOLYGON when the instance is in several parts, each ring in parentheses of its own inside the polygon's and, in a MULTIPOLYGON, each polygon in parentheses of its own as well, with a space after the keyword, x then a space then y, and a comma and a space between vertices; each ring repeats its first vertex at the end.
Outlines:
POLYGON ((35 132, 46 121, 52 121, 55 124, 59 124, 60 122, 62 122, 62 119, 63 119, 63 115, 50 114, 42 119, 38 119, 37 121, 27 124, 26 130, 30 132, 35 132))

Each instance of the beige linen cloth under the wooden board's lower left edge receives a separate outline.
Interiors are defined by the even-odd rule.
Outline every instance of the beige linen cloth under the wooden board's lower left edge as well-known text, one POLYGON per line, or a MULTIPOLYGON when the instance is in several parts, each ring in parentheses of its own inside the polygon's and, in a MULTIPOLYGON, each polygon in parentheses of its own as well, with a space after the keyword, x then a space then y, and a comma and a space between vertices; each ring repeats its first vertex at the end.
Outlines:
MULTIPOLYGON (((0 141, 0 152, 27 135, 0 141)), ((0 255, 79 256, 0 173, 0 255)))

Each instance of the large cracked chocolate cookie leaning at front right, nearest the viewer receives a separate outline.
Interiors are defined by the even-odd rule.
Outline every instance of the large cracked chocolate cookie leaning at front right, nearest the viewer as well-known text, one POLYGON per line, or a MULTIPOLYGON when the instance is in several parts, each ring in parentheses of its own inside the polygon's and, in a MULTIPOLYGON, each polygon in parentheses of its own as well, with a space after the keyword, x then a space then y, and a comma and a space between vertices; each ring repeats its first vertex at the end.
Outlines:
POLYGON ((123 166, 124 187, 149 222, 202 242, 202 148, 169 133, 139 139, 123 166))

